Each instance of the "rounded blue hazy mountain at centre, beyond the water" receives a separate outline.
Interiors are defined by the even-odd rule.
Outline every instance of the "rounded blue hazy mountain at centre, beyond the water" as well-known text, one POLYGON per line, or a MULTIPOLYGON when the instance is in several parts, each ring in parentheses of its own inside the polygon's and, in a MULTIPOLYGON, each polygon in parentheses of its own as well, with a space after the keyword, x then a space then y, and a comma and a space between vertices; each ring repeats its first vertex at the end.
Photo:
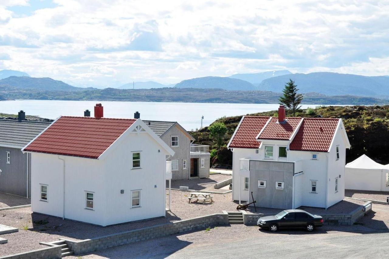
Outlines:
POLYGON ((256 87, 247 81, 220 77, 206 76, 183 80, 175 85, 175 88, 220 88, 225 90, 256 90, 256 87))

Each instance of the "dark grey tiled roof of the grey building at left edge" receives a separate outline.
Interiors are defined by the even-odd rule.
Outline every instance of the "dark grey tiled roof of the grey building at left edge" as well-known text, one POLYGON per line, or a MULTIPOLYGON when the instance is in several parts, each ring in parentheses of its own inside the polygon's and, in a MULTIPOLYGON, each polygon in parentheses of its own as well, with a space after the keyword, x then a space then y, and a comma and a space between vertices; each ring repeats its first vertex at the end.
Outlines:
POLYGON ((24 147, 51 122, 0 120, 0 146, 24 147))

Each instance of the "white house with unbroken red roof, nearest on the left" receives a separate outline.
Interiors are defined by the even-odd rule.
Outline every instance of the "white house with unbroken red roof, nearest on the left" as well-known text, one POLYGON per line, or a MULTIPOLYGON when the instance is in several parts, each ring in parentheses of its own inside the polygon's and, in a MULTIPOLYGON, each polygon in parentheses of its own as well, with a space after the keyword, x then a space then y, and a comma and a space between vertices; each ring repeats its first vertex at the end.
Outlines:
POLYGON ((140 119, 61 116, 31 153, 32 211, 107 226, 165 216, 174 151, 140 119))

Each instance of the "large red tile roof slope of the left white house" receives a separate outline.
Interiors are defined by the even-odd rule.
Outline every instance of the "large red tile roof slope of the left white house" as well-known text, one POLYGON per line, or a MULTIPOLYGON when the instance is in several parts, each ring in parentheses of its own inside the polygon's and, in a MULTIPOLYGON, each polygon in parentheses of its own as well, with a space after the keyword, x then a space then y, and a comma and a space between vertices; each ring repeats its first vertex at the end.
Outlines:
POLYGON ((62 116, 24 151, 98 158, 135 121, 62 116))

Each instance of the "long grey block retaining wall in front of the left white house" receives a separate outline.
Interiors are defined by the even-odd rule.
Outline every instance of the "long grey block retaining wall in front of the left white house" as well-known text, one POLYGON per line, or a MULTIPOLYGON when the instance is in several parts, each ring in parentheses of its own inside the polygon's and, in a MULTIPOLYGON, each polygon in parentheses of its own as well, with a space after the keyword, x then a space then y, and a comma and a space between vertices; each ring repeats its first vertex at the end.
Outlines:
POLYGON ((107 249, 110 247, 116 247, 119 245, 144 241, 151 238, 158 238, 185 231, 192 231, 196 229, 227 224, 228 214, 212 214, 203 217, 196 217, 193 219, 160 224, 148 228, 134 229, 131 231, 101 236, 93 239, 72 241, 66 238, 61 238, 61 240, 65 240, 65 243, 67 243, 68 247, 70 247, 70 249, 72 249, 75 254, 82 254, 86 252, 107 249))

